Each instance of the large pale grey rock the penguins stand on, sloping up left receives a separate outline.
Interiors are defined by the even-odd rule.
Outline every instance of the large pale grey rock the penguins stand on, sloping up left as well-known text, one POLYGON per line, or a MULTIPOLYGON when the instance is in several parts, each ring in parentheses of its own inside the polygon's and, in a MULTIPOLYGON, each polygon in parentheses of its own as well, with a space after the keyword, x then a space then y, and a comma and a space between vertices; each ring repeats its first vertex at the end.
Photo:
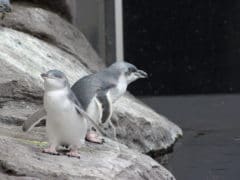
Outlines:
POLYGON ((175 179, 150 157, 107 138, 104 145, 81 147, 80 160, 41 153, 45 128, 21 130, 22 121, 42 103, 39 73, 57 68, 73 82, 88 70, 30 35, 1 28, 0 39, 0 179, 175 179))

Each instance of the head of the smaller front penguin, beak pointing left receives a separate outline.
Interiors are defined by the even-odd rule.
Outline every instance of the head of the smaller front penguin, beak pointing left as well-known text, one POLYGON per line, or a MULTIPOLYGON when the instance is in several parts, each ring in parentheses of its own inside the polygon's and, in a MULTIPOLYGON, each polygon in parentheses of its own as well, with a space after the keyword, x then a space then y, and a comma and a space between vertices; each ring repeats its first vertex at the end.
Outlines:
POLYGON ((65 74, 59 70, 50 70, 42 73, 45 90, 58 90, 68 86, 68 79, 65 74))

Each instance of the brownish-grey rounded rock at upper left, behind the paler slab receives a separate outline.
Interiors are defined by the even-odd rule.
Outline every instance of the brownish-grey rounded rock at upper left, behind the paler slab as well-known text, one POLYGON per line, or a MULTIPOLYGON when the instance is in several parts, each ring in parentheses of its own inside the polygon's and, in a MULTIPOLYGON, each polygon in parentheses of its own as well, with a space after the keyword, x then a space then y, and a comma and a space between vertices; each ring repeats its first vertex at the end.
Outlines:
POLYGON ((13 12, 0 25, 22 31, 53 44, 96 71, 105 67, 84 35, 57 14, 26 4, 13 4, 13 12))

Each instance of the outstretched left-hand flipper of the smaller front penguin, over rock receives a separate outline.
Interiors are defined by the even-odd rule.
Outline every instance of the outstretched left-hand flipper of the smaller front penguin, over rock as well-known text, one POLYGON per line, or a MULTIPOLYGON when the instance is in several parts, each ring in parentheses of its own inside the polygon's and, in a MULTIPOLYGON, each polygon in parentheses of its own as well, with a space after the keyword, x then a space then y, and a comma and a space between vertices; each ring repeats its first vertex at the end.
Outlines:
POLYGON ((35 125, 37 125, 41 120, 46 119, 46 111, 41 108, 37 112, 33 113, 26 121, 24 121, 22 130, 30 131, 35 125))

